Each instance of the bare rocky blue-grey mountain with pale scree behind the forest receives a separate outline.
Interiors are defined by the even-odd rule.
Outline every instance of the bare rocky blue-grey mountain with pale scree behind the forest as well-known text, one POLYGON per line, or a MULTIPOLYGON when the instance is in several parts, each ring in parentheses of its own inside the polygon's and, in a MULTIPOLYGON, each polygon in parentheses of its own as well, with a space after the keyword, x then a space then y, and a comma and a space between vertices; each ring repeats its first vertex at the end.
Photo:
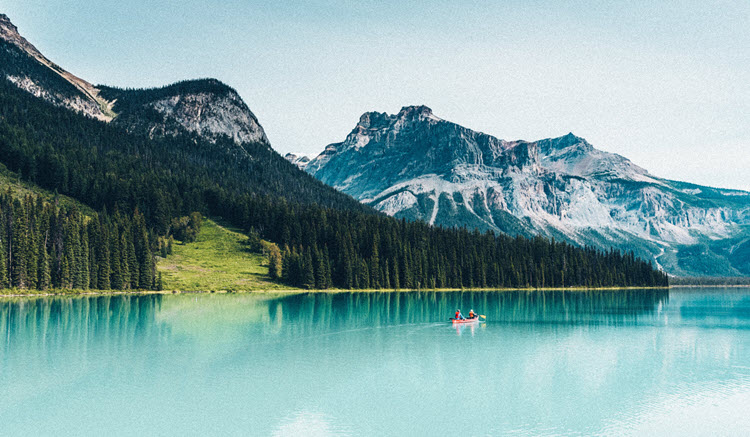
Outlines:
POLYGON ((395 217, 633 250, 681 276, 750 275, 750 193, 656 177, 572 133, 506 141, 410 106, 365 113, 298 165, 395 217))

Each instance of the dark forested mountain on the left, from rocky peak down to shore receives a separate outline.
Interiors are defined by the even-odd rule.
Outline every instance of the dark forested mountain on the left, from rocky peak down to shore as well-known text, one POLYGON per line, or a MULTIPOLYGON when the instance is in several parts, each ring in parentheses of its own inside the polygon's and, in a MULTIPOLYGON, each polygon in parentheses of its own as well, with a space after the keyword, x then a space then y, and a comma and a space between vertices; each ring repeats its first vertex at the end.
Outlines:
POLYGON ((98 218, 6 191, 0 288, 158 289, 154 254, 168 255, 170 237, 201 214, 245 231, 249 250, 271 242, 261 244, 269 276, 298 287, 668 285, 633 254, 395 220, 281 157, 219 81, 82 90, 7 18, 4 29, 12 38, 0 41, 0 163, 11 179, 78 200, 98 218))

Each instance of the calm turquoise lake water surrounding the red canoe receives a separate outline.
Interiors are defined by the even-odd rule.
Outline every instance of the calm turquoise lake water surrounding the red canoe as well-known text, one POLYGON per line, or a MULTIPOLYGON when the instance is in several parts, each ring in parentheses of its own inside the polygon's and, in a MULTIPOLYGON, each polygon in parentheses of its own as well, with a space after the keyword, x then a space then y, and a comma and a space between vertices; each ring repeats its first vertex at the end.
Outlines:
POLYGON ((749 410, 748 289, 0 299, 2 435, 748 435, 749 410))

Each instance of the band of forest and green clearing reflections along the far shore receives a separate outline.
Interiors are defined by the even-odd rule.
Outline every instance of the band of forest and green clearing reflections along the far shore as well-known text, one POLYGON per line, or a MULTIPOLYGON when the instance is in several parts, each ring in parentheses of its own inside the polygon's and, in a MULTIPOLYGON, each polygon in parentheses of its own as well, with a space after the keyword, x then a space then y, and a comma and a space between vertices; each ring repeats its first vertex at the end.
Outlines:
MULTIPOLYGON (((212 342, 282 331, 305 335, 448 322, 457 308, 474 309, 491 324, 626 325, 653 319, 668 300, 666 290, 16 298, 0 300, 0 349, 14 348, 18 338, 24 348, 34 348, 61 342, 85 345, 97 338, 123 347, 179 334, 212 342)), ((747 317, 746 310, 738 311, 747 317)), ((459 326, 457 332, 474 334, 477 327, 459 326)))

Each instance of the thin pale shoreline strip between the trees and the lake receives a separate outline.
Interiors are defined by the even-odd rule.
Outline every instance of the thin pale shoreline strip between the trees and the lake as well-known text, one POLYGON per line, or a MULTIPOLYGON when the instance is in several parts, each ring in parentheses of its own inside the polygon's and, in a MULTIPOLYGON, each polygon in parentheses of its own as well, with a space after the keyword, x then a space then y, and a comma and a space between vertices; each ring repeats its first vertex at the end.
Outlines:
MULTIPOLYGON (((705 287, 702 285, 680 285, 670 287, 544 287, 544 288, 422 288, 422 289, 300 289, 300 288, 279 288, 279 289, 259 289, 259 290, 45 290, 35 292, 31 290, 0 290, 0 298, 8 297, 76 297, 76 296, 120 296, 120 295, 150 295, 150 294, 301 294, 301 293, 398 293, 398 292, 487 292, 487 291, 618 291, 618 290, 669 290, 671 288, 693 288, 705 287), (9 292, 10 291, 10 292, 9 292)), ((750 287, 750 285, 728 285, 712 286, 711 288, 729 288, 729 287, 750 287)))

